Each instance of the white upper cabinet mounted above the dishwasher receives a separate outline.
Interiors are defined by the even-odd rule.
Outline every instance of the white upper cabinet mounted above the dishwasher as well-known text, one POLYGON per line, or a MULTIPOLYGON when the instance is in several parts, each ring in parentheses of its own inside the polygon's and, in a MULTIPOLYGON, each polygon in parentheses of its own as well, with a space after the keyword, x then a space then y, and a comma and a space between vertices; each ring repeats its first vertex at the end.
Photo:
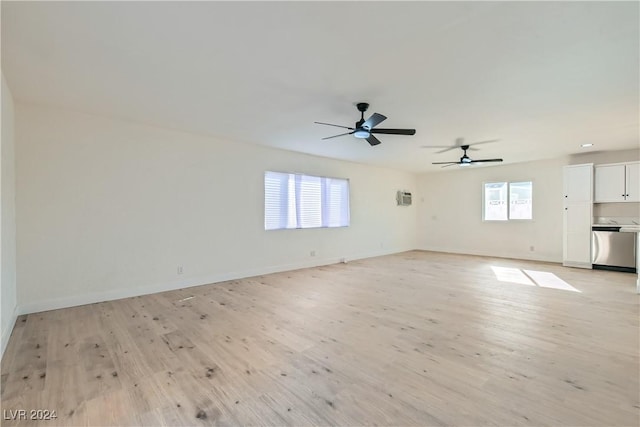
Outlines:
POLYGON ((640 163, 595 167, 595 203, 640 201, 640 163))

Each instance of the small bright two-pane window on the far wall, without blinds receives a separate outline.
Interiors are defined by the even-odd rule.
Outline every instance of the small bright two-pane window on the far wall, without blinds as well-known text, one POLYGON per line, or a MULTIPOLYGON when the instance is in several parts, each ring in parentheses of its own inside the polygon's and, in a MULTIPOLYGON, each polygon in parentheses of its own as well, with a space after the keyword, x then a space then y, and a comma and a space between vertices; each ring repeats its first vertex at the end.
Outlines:
POLYGON ((531 181, 485 183, 483 219, 485 221, 533 219, 533 183, 531 181))

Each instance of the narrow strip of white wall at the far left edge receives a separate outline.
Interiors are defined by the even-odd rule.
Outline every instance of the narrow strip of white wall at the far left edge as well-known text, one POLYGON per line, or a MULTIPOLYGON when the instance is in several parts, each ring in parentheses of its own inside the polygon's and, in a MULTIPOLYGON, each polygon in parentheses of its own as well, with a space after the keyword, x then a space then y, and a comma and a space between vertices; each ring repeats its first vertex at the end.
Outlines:
POLYGON ((0 147, 0 310, 2 340, 0 356, 4 354, 16 321, 16 211, 14 168, 14 105, 11 91, 2 75, 2 140, 0 147))

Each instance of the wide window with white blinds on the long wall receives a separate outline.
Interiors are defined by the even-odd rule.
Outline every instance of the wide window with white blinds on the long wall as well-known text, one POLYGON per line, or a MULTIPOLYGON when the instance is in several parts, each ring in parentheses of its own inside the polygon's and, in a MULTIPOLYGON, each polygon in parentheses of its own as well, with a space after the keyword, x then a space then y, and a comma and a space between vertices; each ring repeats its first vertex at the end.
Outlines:
POLYGON ((264 173, 264 229, 349 226, 349 181, 264 173))

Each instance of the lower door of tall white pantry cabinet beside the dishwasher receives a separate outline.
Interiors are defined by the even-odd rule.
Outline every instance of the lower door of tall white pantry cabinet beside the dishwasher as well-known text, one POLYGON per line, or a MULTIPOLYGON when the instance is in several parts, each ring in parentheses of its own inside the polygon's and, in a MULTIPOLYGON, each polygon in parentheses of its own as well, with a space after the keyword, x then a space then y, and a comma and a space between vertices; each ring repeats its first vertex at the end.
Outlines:
POLYGON ((564 265, 591 268, 591 207, 580 202, 564 208, 564 265))

